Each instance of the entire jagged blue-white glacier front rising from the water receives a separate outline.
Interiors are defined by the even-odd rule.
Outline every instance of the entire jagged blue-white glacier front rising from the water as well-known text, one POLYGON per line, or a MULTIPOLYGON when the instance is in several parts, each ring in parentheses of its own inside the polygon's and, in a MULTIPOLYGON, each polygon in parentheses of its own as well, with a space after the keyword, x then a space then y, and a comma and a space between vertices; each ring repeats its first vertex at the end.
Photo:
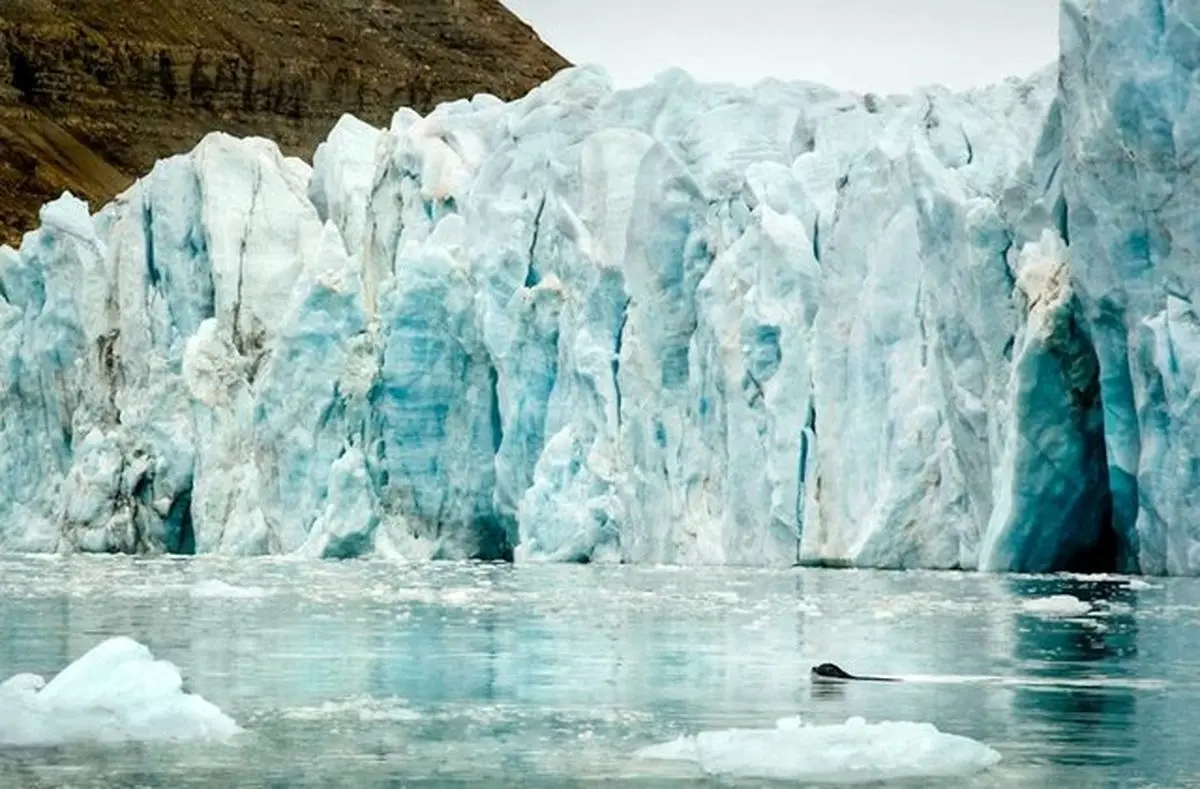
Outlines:
POLYGON ((966 92, 574 67, 0 248, 0 548, 1200 573, 1200 14, 966 92))

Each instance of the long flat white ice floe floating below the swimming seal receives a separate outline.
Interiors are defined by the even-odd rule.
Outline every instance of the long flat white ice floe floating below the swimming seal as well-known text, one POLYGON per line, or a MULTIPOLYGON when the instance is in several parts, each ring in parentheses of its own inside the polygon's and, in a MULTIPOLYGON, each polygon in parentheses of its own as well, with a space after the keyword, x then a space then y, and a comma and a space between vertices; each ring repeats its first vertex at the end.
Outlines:
POLYGON ((784 718, 774 729, 701 731, 637 752, 642 759, 690 761, 712 776, 859 784, 961 777, 997 764, 1000 753, 932 723, 805 725, 784 718))

